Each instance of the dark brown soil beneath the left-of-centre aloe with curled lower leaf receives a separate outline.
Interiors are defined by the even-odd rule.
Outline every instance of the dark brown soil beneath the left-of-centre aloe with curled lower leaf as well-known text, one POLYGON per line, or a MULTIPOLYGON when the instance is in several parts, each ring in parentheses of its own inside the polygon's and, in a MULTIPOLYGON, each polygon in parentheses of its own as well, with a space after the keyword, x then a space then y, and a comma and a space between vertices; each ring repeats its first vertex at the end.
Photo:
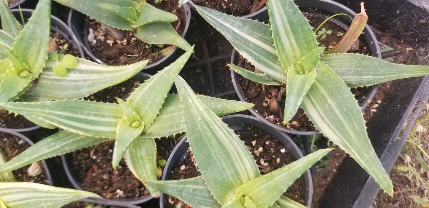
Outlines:
MULTIPOLYGON (((163 138, 156 140, 157 160, 167 160, 175 140, 163 138)), ((72 172, 84 190, 99 194, 107 199, 144 198, 149 191, 137 179, 125 160, 122 159, 116 170, 112 167, 113 140, 71 153, 72 172)), ((163 169, 163 167, 161 167, 163 169)))

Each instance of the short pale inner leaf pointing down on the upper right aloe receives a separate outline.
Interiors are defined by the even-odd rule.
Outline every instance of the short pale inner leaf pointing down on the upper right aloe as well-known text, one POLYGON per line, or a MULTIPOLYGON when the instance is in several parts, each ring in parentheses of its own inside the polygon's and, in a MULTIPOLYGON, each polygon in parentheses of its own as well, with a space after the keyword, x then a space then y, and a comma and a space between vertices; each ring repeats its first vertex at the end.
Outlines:
POLYGON ((284 103, 283 124, 289 122, 301 106, 302 100, 316 79, 316 69, 313 68, 307 74, 298 74, 295 66, 287 71, 286 101, 284 103))

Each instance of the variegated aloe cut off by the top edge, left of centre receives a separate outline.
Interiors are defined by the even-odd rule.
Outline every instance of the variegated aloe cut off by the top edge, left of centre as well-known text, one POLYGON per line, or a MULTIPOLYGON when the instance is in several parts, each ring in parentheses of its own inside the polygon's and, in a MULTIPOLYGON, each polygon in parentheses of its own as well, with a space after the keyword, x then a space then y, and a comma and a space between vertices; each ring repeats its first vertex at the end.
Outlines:
POLYGON ((104 24, 120 30, 136 30, 134 35, 149 44, 175 45, 185 51, 191 46, 170 22, 177 16, 157 9, 146 0, 55 0, 104 24))

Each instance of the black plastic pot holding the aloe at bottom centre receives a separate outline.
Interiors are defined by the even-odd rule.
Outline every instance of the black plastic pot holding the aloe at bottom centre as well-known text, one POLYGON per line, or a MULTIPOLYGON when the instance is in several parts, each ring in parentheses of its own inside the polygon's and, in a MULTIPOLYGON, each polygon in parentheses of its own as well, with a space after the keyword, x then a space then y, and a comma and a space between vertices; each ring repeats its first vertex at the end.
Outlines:
MULTIPOLYGON (((285 154, 283 152, 289 152, 292 160, 298 160, 299 158, 303 157, 301 150, 299 150, 298 146, 296 146, 296 144, 283 132, 281 131, 277 131, 274 128, 266 125, 265 123, 261 122, 259 119, 256 119, 253 116, 247 116, 247 115, 230 115, 230 116, 224 116, 222 117, 222 121, 227 123, 228 126, 231 129, 234 129, 236 131, 239 131, 239 134, 241 134, 240 132, 245 132, 245 131, 250 131, 248 129, 259 129, 257 131, 259 131, 258 134, 263 134, 263 136, 258 137, 259 139, 263 139, 266 138, 264 137, 265 135, 268 135, 268 137, 272 138, 272 139, 276 139, 278 140, 278 143, 283 146, 284 148, 280 150, 279 154, 285 154)), ((250 135, 250 137, 252 138, 251 140, 253 140, 253 131, 252 131, 252 135, 250 135)), ((245 133, 242 134, 242 137, 245 137, 245 133)), ((244 138, 243 138, 244 139, 244 138)), ((256 138, 255 138, 256 139, 256 138)), ((189 155, 189 143, 186 142, 187 137, 185 137, 184 139, 182 139, 177 146, 175 147, 175 149, 173 150, 172 154, 170 155, 163 175, 162 175, 162 180, 169 180, 170 179, 170 174, 172 173, 172 171, 175 169, 175 167, 177 166, 177 164, 179 163, 179 161, 183 162, 184 161, 184 157, 189 155)), ((270 141, 270 140, 268 140, 270 141)), ((262 148, 263 145, 269 145, 270 142, 263 142, 263 140, 261 140, 261 142, 257 142, 256 140, 254 140, 252 143, 249 143, 249 141, 243 141, 246 146, 248 146, 248 149, 250 149, 250 151, 252 151, 252 148, 254 148, 254 152, 257 151, 257 147, 260 146, 260 148, 262 148), (254 145, 254 143, 256 145, 254 145), (268 144, 267 144, 268 143, 268 144), (251 147, 253 146, 253 147, 251 147)), ((274 145, 274 142, 271 142, 271 145, 274 145)), ((266 146, 264 146, 264 148, 266 148, 266 146)), ((261 155, 262 155, 262 150, 261 150, 261 155)), ((269 152, 269 151, 265 151, 265 152, 269 152)), ((273 152, 273 151, 272 151, 273 152)), ((274 151, 276 152, 276 150, 274 151)), ((258 151, 259 154, 259 151, 258 151)), ((287 153, 286 153, 287 154, 287 153)), ((253 155, 253 153, 252 153, 253 155)), ((254 158, 257 157, 255 155, 253 155, 254 158)), ((258 165, 260 165, 260 160, 256 159, 258 165)), ((266 160, 268 161, 268 160, 266 160)), ((274 163, 279 163, 279 164, 283 164, 284 162, 280 162, 281 160, 278 158, 278 162, 276 162, 274 159, 272 162, 274 163)), ((290 161, 291 162, 291 161, 290 161)), ((268 163, 267 163, 268 164, 268 163)), ((260 165, 263 166, 263 165, 260 165)), ((271 166, 271 164, 269 165, 271 166)), ((269 167, 267 166, 267 167, 269 167)), ((263 169, 260 169, 261 172, 264 172, 263 169)), ((268 171, 270 172, 270 171, 268 171)), ((310 207, 311 206, 311 199, 312 199, 312 195, 313 195, 313 182, 311 180, 311 174, 310 171, 307 170, 306 172, 304 172, 301 176, 301 180, 302 180, 302 187, 303 187, 303 193, 301 193, 302 196, 302 202, 305 206, 310 207)), ((168 204, 168 199, 165 193, 162 193, 160 196, 160 206, 161 208, 166 208, 167 204, 168 204)))

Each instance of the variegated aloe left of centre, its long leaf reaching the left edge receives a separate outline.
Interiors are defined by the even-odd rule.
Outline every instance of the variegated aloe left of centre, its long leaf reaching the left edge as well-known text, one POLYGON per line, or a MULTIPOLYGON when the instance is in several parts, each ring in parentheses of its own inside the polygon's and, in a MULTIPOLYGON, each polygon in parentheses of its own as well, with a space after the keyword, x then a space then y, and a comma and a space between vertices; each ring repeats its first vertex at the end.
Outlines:
MULTIPOLYGON (((39 103, 0 103, 0 107, 22 114, 47 128, 60 127, 58 132, 31 146, 8 163, 0 172, 17 169, 56 155, 115 139, 113 167, 125 154, 128 167, 145 181, 157 180, 156 145, 154 138, 184 131, 178 95, 168 92, 192 51, 152 76, 119 104, 85 100, 60 100, 39 103)), ((253 106, 199 95, 198 99, 218 116, 246 110, 253 106)), ((159 192, 145 184, 153 196, 159 192)))

